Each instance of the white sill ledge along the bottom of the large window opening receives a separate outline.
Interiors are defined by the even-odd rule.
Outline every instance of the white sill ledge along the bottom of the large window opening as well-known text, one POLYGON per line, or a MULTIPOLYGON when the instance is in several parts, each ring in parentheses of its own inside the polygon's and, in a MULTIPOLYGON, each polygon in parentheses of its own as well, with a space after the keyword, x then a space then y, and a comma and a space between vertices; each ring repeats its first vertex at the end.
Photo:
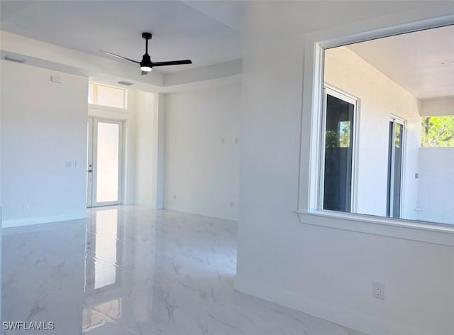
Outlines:
POLYGON ((318 210, 297 211, 301 224, 454 246, 454 225, 318 210))

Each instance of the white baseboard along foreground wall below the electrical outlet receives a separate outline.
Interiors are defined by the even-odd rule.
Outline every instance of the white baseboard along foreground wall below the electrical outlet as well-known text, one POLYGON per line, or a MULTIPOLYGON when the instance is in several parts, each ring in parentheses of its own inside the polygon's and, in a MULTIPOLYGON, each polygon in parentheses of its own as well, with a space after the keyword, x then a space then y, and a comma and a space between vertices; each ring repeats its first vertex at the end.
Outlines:
POLYGON ((238 276, 235 279, 235 290, 299 310, 350 329, 362 331, 367 335, 433 335, 423 331, 409 329, 400 324, 384 322, 369 315, 342 307, 325 304, 309 297, 297 295, 294 292, 262 285, 256 281, 249 282, 248 280, 238 278, 238 276))

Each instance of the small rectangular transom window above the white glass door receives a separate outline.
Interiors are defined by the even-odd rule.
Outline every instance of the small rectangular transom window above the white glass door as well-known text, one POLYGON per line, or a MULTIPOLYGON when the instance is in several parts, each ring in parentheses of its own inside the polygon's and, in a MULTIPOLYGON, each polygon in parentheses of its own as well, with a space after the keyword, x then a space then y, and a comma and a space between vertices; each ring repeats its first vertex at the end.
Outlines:
POLYGON ((88 103, 126 109, 126 90, 90 82, 88 87, 88 103))

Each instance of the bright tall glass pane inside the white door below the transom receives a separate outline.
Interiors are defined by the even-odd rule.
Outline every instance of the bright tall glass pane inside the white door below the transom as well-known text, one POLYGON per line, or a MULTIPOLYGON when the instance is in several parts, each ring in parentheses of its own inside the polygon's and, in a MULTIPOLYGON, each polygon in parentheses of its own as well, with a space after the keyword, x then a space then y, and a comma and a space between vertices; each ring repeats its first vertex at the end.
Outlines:
POLYGON ((96 202, 118 201, 120 126, 98 122, 96 202))

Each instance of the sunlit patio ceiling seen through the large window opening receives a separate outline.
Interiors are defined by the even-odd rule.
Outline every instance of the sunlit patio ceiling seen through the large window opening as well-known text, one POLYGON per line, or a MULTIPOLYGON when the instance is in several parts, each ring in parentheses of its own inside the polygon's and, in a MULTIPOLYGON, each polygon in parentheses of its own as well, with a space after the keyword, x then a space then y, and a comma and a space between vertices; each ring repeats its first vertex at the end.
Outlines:
MULTIPOLYGON (((454 26, 349 45, 418 99, 454 97, 454 26)), ((386 97, 383 97, 386 99, 386 97)))

